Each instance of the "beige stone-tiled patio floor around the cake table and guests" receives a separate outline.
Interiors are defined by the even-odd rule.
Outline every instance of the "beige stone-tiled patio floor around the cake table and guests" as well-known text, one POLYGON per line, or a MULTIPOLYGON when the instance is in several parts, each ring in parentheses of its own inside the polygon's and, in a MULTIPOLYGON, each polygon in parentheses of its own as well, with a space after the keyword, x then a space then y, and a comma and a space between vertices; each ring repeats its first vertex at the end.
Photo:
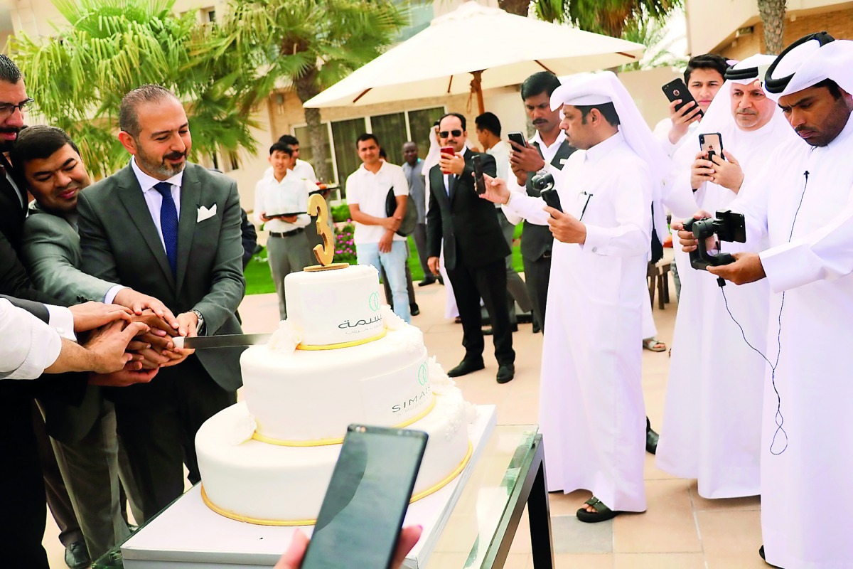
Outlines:
MULTIPOLYGON (((444 318, 444 287, 438 283, 415 287, 421 315, 412 323, 424 332, 427 350, 450 369, 463 355, 461 326, 444 318)), ((670 345, 676 315, 675 289, 672 303, 661 311, 657 299, 653 315, 658 337, 670 345)), ((247 297, 241 305, 246 332, 269 332, 276 327, 278 309, 273 294, 247 297)), ((539 366, 542 334, 531 334, 530 324, 521 324, 514 334, 517 352, 515 379, 506 385, 495 381, 497 364, 486 341, 484 370, 457 380, 465 397, 475 404, 496 404, 498 422, 537 422, 539 366)), ((669 370, 666 352, 643 351, 643 392, 647 414, 658 430, 664 408, 664 391, 669 370)), ((546 456, 546 463, 547 463, 546 456)), ((705 500, 696 491, 696 481, 674 478, 654 466, 647 455, 645 514, 618 516, 601 524, 577 521, 574 513, 589 492, 551 494, 551 524, 554 556, 560 569, 762 569, 767 567, 757 555, 761 544, 760 504, 757 497, 705 500)), ((58 530, 48 514, 44 546, 51 567, 61 569, 63 549, 58 530)), ((530 536, 526 522, 519 526, 508 569, 532 568, 530 536)))

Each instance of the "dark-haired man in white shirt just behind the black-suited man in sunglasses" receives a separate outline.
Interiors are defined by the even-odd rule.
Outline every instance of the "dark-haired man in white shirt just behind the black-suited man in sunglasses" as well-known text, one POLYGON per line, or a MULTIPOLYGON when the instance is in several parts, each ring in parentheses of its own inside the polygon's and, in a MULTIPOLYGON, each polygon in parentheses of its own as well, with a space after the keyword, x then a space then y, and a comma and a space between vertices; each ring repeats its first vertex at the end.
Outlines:
MULTIPOLYGON (((476 125, 477 140, 483 146, 485 154, 489 154, 495 158, 497 168, 497 177, 504 181, 509 181, 513 176, 513 172, 509 170, 509 152, 512 149, 509 142, 501 139, 501 120, 497 118, 495 113, 483 113, 474 119, 476 125)), ((495 207, 500 209, 500 204, 495 204, 495 207)), ((497 214, 497 221, 501 224, 503 238, 507 241, 510 249, 513 247, 513 236, 515 234, 515 224, 511 223, 507 216, 503 213, 497 214)), ((519 329, 518 317, 515 315, 515 303, 519 303, 519 307, 524 312, 531 311, 531 299, 527 294, 525 282, 513 268, 513 255, 507 255, 507 304, 509 307, 509 328, 513 331, 519 329)))

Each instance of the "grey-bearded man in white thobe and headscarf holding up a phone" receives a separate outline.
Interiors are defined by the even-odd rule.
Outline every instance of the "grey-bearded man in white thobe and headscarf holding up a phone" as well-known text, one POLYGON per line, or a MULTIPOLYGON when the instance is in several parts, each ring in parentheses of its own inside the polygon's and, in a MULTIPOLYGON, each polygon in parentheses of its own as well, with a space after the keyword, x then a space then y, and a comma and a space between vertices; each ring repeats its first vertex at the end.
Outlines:
MULTIPOLYGON (((728 160, 717 155, 711 163, 707 154, 697 154, 697 136, 678 150, 678 171, 668 188, 672 199, 664 199, 676 217, 692 215, 697 208, 728 209, 744 181, 757 176, 774 148, 804 144, 759 82, 774 59, 752 55, 726 72, 726 83, 698 133, 720 133, 728 160)), ((723 247, 727 253, 754 251, 766 248, 767 242, 723 247)), ((699 496, 756 496, 767 364, 743 340, 738 324, 751 345, 765 353, 767 282, 721 289, 717 277, 705 270, 685 272, 690 274, 678 302, 664 405, 666 430, 656 462, 665 472, 698 479, 699 496), (737 323, 728 316, 726 305, 737 323)))

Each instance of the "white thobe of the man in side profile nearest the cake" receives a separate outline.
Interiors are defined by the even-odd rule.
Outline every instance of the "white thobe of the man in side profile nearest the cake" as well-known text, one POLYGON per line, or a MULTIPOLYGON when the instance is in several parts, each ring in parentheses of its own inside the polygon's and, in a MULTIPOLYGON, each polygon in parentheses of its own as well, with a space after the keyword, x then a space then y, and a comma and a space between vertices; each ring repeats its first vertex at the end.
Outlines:
MULTIPOLYGON (((543 341, 539 422, 548 491, 593 492, 613 510, 646 509, 646 412, 641 390, 642 286, 651 227, 647 165, 621 132, 566 161, 563 210, 587 228, 583 245, 554 241, 543 341)), ((547 224, 541 198, 508 207, 547 224)))

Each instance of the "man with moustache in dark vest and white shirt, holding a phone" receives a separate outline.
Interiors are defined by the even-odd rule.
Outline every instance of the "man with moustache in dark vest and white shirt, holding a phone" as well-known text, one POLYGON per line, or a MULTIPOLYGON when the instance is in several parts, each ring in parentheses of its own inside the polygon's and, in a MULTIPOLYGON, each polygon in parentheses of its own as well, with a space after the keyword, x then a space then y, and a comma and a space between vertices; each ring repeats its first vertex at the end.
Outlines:
MULTIPOLYGON (((554 179, 558 178, 566 160, 575 151, 566 142, 566 133, 560 129, 560 109, 551 110, 550 97, 558 87, 560 79, 547 71, 533 73, 521 84, 521 100, 536 134, 525 145, 509 141, 513 147, 509 165, 514 176, 507 179, 511 191, 537 197, 539 190, 533 187, 533 177, 544 171, 554 176, 554 179)), ((508 208, 503 208, 503 213, 513 224, 522 221, 508 208)), ((553 243, 554 236, 547 226, 524 220, 521 258, 525 265, 525 285, 533 306, 534 331, 545 327, 553 243)))

